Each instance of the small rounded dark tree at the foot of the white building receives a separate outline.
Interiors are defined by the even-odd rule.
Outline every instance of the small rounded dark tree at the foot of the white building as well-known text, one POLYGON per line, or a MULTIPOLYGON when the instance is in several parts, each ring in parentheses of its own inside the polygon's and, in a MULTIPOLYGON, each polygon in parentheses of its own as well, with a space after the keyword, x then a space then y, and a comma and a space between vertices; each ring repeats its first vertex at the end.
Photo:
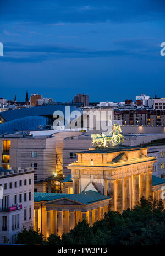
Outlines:
POLYGON ((35 231, 33 227, 28 229, 23 227, 23 230, 18 233, 17 244, 36 245, 43 244, 43 235, 39 230, 35 231))

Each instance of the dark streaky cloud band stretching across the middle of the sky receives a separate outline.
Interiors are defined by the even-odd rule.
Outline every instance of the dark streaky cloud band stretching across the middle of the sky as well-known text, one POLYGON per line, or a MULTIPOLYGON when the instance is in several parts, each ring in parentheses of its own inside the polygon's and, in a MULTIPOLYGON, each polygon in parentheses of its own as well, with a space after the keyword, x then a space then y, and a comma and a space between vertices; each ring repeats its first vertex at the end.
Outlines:
MULTIPOLYGON (((127 41, 127 40, 126 40, 127 41)), ((149 58, 159 56, 160 48, 155 46, 130 47, 124 42, 124 46, 114 49, 87 49, 77 46, 64 45, 21 45, 8 43, 4 45, 4 56, 0 61, 4 62, 43 62, 59 58, 100 58, 100 57, 139 57, 149 58), (127 47, 126 47, 127 46, 127 47)))

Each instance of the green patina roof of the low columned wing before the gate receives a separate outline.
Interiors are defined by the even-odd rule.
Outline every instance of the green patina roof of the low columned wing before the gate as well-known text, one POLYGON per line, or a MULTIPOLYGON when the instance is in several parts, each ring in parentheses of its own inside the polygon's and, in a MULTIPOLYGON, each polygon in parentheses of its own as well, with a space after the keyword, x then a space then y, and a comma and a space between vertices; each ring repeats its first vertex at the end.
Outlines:
POLYGON ((110 199, 109 196, 102 195, 98 192, 89 190, 86 192, 81 192, 79 194, 58 194, 58 193, 42 193, 42 192, 34 192, 34 201, 52 201, 60 198, 68 198, 74 200, 76 202, 80 202, 82 204, 88 205, 94 202, 110 199))

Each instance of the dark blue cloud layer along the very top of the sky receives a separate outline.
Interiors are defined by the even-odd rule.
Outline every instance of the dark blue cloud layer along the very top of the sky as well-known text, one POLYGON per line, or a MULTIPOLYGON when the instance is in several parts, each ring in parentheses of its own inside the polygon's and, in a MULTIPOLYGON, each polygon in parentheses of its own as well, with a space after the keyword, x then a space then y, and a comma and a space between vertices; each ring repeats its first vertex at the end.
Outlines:
POLYGON ((6 0, 1 3, 0 20, 54 24, 143 22, 164 20, 165 1, 159 0, 6 0))

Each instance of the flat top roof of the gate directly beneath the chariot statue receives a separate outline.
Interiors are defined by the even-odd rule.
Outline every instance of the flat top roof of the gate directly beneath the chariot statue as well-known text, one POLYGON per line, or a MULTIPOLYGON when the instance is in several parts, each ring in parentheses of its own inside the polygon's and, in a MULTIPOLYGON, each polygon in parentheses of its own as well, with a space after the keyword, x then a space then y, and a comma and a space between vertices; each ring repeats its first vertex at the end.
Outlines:
POLYGON ((134 151, 134 150, 139 150, 140 148, 145 148, 145 147, 135 147, 135 146, 127 146, 127 145, 120 145, 120 146, 111 146, 108 148, 94 148, 91 150, 83 151, 83 152, 77 152, 77 153, 113 153, 113 152, 119 152, 119 151, 134 151))

